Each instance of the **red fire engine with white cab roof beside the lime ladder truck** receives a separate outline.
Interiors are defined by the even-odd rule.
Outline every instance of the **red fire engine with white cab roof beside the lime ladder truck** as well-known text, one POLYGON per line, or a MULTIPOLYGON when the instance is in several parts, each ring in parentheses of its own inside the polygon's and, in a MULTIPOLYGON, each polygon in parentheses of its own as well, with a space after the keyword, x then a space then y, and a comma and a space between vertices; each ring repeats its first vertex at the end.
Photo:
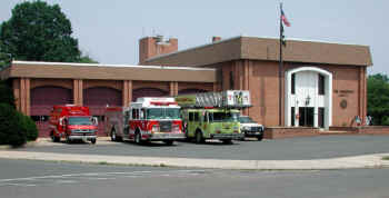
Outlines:
POLYGON ((180 107, 173 98, 138 98, 130 107, 107 107, 106 132, 112 141, 163 141, 184 139, 180 107))

